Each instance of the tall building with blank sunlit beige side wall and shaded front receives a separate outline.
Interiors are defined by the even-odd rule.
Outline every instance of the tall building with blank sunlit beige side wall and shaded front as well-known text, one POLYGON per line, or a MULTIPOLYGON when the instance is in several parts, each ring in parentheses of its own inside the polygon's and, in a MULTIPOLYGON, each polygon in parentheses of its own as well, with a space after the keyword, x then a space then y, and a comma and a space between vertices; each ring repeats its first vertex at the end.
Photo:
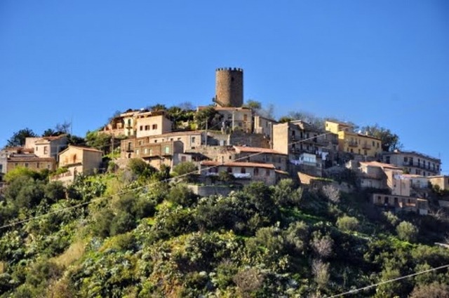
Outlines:
POLYGON ((290 121, 273 126, 273 149, 287 154, 293 172, 321 176, 329 141, 326 135, 304 121, 290 121))

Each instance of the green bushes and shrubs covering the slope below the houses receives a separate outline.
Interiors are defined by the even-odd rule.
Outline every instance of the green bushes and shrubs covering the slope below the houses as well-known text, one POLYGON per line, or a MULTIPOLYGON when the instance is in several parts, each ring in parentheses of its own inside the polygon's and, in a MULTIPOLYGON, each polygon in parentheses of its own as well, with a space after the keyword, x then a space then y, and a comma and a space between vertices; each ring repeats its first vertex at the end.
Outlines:
MULTIPOLYGON (((0 229, 0 297, 326 297, 449 264, 431 245, 441 216, 292 180, 199 198, 166 178, 138 160, 69 187, 15 172, 0 224, 35 219, 0 229)), ((444 269, 354 297, 447 297, 448 284, 444 269)))

